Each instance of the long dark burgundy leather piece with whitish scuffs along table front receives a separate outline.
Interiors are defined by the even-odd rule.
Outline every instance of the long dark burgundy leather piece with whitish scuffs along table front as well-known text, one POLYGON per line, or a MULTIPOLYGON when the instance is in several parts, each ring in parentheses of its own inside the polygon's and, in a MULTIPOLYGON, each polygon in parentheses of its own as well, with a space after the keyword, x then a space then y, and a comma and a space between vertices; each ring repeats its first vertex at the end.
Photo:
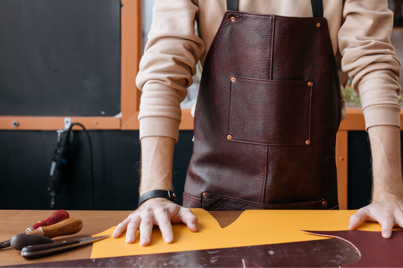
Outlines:
POLYGON ((357 261, 359 255, 349 243, 333 238, 7 267, 243 267, 245 258, 261 267, 339 267, 357 261))

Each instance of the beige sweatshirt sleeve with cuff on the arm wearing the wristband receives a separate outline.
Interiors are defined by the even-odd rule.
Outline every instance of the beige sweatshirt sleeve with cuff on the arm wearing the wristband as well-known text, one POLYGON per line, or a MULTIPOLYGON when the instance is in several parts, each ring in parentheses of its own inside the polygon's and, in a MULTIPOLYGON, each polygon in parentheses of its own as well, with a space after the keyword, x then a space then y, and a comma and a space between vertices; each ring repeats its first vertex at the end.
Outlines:
POLYGON ((204 42, 194 31, 199 8, 196 0, 155 0, 151 30, 137 87, 140 102, 140 139, 165 136, 178 140, 181 102, 193 83, 204 42))

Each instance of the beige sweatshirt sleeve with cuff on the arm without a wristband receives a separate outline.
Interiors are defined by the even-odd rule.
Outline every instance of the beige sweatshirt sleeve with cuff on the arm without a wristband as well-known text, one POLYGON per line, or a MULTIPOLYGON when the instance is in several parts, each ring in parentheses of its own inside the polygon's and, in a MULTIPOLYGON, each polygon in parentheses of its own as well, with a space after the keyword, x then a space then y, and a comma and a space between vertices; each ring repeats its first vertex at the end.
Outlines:
POLYGON ((393 12, 386 0, 345 0, 339 49, 342 70, 359 93, 366 129, 400 127, 400 61, 391 45, 393 12))

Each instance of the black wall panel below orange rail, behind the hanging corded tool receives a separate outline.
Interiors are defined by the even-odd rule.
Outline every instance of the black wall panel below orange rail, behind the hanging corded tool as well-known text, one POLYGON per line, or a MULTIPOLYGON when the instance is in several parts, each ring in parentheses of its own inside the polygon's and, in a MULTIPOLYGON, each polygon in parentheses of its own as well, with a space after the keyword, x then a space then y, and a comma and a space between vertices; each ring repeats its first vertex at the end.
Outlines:
MULTIPOLYGON (((93 143, 95 209, 137 208, 139 131, 89 131, 93 143)), ((173 184, 182 204, 187 166, 193 152, 193 131, 180 131, 174 148, 173 184)), ((56 131, 0 131, 0 209, 50 209, 49 170, 56 131)), ((75 164, 62 187, 55 209, 91 210, 89 146, 74 131, 75 164)))

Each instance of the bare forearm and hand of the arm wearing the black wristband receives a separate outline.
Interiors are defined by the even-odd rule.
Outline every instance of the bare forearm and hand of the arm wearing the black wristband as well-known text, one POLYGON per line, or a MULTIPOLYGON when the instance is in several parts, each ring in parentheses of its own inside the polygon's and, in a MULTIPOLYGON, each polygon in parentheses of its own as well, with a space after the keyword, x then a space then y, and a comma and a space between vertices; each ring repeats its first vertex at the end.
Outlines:
MULTIPOLYGON (((174 143, 175 140, 170 137, 150 136, 141 139, 140 196, 152 190, 172 190, 174 143)), ((186 223, 190 231, 197 232, 199 220, 189 208, 155 197, 145 201, 121 222, 112 237, 120 237, 127 229, 126 243, 134 243, 137 230, 140 230, 140 245, 147 246, 151 241, 153 225, 158 225, 165 243, 172 243, 174 234, 171 224, 180 222, 186 223)))

